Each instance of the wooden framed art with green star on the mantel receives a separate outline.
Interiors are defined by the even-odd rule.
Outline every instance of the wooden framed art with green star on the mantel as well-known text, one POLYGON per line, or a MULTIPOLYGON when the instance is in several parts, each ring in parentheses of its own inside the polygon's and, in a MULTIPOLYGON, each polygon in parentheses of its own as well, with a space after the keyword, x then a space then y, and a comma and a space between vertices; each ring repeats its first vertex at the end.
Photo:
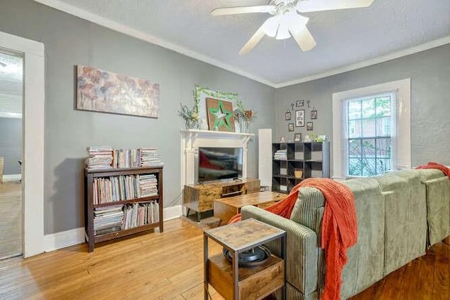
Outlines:
POLYGON ((206 110, 210 130, 234 132, 233 105, 231 102, 206 98, 206 110))

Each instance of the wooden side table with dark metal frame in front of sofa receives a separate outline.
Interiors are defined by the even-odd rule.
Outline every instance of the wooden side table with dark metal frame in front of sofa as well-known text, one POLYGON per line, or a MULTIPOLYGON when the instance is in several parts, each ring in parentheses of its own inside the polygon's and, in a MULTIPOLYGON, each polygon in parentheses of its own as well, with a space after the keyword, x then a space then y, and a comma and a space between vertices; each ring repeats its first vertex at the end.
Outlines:
POLYGON ((262 299, 279 288, 282 288, 283 299, 286 299, 284 230, 255 219, 205 230, 203 254, 205 300, 208 299, 209 285, 227 300, 262 299), (231 263, 221 253, 209 257, 208 239, 229 249, 232 254, 231 263), (238 266, 238 255, 241 252, 276 239, 281 239, 281 257, 271 254, 266 262, 255 268, 238 266))

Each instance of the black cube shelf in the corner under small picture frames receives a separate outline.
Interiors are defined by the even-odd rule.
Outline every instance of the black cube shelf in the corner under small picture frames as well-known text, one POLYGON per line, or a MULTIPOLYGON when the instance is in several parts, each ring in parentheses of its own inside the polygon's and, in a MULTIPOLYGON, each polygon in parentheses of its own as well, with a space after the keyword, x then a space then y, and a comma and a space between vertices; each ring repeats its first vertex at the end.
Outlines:
POLYGON ((273 143, 272 169, 272 191, 278 193, 289 193, 305 178, 329 178, 330 143, 273 143))

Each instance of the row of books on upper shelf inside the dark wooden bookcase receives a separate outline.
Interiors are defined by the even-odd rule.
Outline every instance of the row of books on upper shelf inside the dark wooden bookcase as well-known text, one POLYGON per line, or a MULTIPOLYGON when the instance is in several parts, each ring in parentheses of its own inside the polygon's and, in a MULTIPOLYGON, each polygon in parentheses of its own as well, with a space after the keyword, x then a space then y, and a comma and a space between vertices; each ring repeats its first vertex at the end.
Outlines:
POLYGON ((155 174, 119 175, 94 178, 94 204, 103 204, 158 195, 155 174))

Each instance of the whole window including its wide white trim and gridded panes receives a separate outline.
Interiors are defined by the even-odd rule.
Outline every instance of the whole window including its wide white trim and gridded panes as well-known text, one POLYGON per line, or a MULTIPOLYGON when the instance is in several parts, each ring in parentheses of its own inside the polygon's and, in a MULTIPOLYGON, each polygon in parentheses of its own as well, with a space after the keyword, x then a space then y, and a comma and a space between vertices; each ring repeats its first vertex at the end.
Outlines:
POLYGON ((333 178, 411 167, 411 79, 333 93, 333 178))

